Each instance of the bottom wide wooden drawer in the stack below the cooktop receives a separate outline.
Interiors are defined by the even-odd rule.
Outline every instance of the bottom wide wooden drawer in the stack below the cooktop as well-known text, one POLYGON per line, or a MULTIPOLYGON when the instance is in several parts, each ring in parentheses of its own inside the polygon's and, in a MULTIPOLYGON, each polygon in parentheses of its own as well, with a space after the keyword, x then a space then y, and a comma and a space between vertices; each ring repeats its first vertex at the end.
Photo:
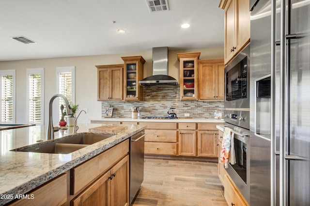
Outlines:
POLYGON ((145 154, 176 155, 176 143, 144 143, 145 154))

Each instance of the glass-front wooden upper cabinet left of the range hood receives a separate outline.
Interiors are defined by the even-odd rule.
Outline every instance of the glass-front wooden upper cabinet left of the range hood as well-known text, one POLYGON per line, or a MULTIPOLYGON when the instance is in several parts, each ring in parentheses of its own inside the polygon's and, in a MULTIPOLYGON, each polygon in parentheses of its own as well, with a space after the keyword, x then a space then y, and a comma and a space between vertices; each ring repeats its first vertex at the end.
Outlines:
POLYGON ((124 100, 143 101, 143 88, 138 83, 143 79, 142 56, 122 57, 124 60, 124 100))

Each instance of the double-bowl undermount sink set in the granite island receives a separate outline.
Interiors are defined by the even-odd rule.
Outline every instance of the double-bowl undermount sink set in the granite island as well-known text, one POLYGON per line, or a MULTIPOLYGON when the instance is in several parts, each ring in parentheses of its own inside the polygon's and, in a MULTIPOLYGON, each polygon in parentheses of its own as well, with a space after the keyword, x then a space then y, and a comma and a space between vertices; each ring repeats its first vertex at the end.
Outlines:
POLYGON ((70 137, 63 137, 56 139, 54 142, 47 142, 43 144, 35 144, 28 148, 17 148, 11 151, 16 152, 38 152, 38 153, 52 153, 52 154, 69 154, 84 148, 90 144, 105 140, 115 134, 77 134, 70 137))

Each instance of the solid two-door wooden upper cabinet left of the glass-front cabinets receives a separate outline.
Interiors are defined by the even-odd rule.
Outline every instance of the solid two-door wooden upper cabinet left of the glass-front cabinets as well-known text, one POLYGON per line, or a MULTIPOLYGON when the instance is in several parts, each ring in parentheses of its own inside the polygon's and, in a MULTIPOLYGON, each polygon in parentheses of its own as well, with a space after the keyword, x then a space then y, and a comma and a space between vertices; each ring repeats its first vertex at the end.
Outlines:
POLYGON ((97 100, 123 100, 124 64, 99 65, 97 67, 97 100))

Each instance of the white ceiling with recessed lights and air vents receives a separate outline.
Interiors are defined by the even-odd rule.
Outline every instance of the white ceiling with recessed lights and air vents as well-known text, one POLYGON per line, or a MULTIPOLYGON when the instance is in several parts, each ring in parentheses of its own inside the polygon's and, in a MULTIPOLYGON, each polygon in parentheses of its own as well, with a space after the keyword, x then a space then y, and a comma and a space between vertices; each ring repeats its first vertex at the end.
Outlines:
POLYGON ((223 47, 219 1, 168 0, 151 13, 146 0, 0 0, 0 61, 223 47))

